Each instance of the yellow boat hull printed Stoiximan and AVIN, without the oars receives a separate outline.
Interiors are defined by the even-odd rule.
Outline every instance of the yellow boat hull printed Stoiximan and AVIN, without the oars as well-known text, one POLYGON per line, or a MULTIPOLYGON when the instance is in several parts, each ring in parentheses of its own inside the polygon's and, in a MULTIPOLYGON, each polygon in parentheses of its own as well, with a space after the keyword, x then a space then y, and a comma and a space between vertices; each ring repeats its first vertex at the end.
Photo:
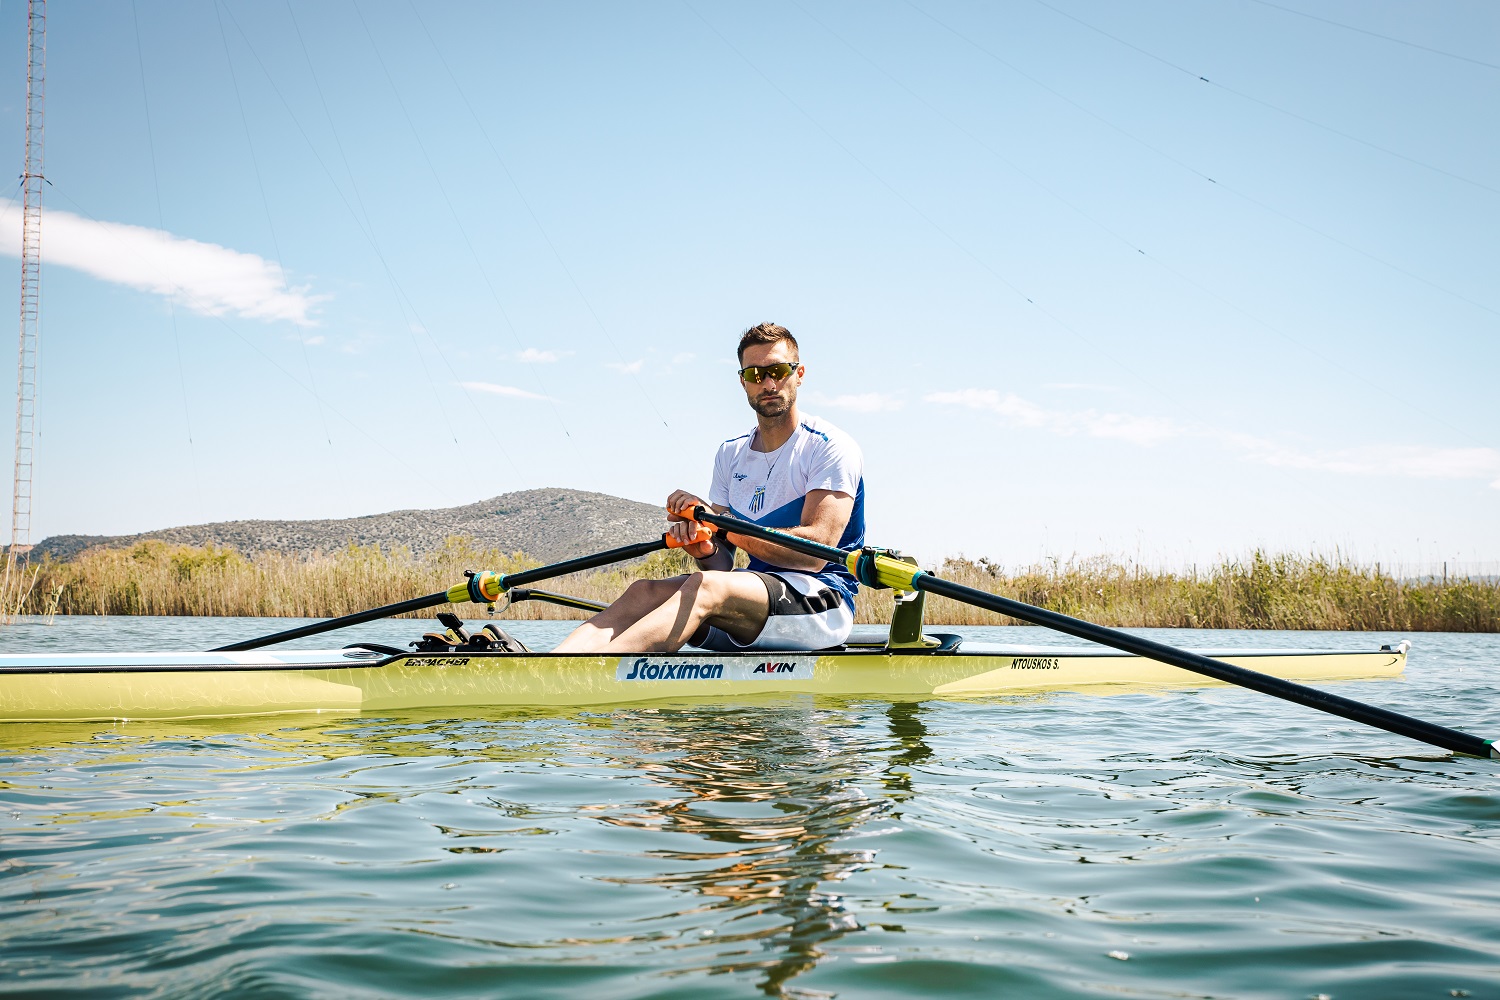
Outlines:
MULTIPOLYGON (((819 652, 573 657, 388 646, 334 651, 0 655, 0 720, 212 718, 316 711, 579 706, 766 693, 975 697, 1100 685, 1203 684, 1100 648, 999 646, 958 636, 910 645, 858 636, 819 652), (930 645, 928 645, 930 643, 930 645)), ((1388 678, 1407 643, 1378 651, 1206 651, 1276 678, 1388 678)))

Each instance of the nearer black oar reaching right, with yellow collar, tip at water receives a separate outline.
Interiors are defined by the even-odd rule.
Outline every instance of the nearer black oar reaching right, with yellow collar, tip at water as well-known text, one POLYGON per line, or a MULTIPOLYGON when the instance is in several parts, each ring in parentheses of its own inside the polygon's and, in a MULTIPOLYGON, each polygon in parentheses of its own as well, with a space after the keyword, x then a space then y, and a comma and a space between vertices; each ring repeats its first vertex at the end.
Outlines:
POLYGON ((1059 615, 1058 612, 1048 612, 1042 607, 1023 604, 1022 601, 1012 601, 1011 598, 999 597, 998 594, 976 591, 972 586, 952 583, 930 573, 922 573, 921 570, 914 568, 909 562, 891 558, 891 555, 888 555, 890 550, 886 549, 836 549, 832 546, 824 546, 807 538, 798 538, 772 528, 762 528, 760 525, 753 525, 747 520, 740 520, 738 517, 716 514, 706 507, 698 507, 692 511, 692 514, 686 510, 678 511, 678 514, 681 517, 690 516, 692 520, 714 525, 716 528, 722 528, 724 531, 771 541, 794 552, 813 556, 814 559, 826 559, 830 562, 846 565, 849 567, 849 573, 852 573, 855 579, 866 586, 938 594, 939 597, 946 597, 962 604, 982 607, 984 610, 994 612, 996 615, 1010 615, 1011 618, 1018 618, 1022 621, 1032 622, 1034 625, 1046 625, 1047 628, 1054 628, 1060 633, 1077 636, 1078 639, 1096 642, 1101 646, 1124 649, 1125 652, 1132 652, 1137 657, 1160 660, 1161 663, 1172 664, 1173 667, 1182 667, 1184 670, 1192 670, 1194 673, 1210 676, 1215 681, 1238 684, 1240 687, 1251 688, 1252 691, 1260 691, 1262 694, 1270 694, 1278 699, 1286 699, 1287 702, 1296 702, 1298 705, 1316 708, 1320 712, 1330 712, 1356 723, 1365 723, 1366 726, 1383 729, 1389 733, 1410 736, 1412 739, 1431 744, 1432 747, 1442 747, 1443 750, 1458 754, 1500 759, 1500 747, 1497 747, 1492 739, 1470 736, 1468 733, 1461 733, 1456 729, 1436 726, 1434 723, 1424 723, 1422 720, 1412 718, 1410 715, 1401 715, 1400 712, 1392 712, 1389 709, 1376 708, 1374 705, 1365 705, 1364 702, 1318 691, 1317 688, 1310 688, 1302 684, 1272 678, 1257 670, 1246 670, 1245 667, 1236 667, 1220 660, 1210 660, 1209 657, 1197 652, 1188 652, 1186 649, 1167 646, 1160 642, 1152 642, 1150 639, 1142 639, 1140 636, 1118 631, 1114 628, 1095 625, 1080 618, 1071 618, 1068 615, 1059 615))

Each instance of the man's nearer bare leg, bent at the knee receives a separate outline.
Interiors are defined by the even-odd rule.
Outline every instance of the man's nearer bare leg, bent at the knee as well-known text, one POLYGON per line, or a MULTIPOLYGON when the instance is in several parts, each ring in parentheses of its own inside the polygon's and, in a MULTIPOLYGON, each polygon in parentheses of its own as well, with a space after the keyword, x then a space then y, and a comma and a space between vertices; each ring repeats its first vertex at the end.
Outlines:
POLYGON ((765 628, 771 598, 756 574, 711 570, 680 580, 664 601, 615 634, 603 652, 676 652, 705 624, 746 643, 765 628))

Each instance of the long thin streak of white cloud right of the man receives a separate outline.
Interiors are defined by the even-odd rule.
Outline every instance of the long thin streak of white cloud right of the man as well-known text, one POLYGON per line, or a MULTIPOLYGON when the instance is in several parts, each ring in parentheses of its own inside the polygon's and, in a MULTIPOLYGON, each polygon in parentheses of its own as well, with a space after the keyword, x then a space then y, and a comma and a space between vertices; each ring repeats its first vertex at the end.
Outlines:
MULTIPOLYGON (((966 406, 999 414, 1017 427, 1035 427, 1056 435, 1084 433, 1149 447, 1168 439, 1214 441, 1238 451, 1248 462, 1288 469, 1335 472, 1340 475, 1401 475, 1432 480, 1474 480, 1500 477, 1500 450, 1443 448, 1432 445, 1365 445, 1304 451, 1256 435, 1216 427, 1184 426, 1160 417, 1101 414, 1095 409, 1044 409, 1014 393, 1004 396, 993 388, 960 388, 928 393, 928 403, 966 406)), ((1500 489, 1500 478, 1490 483, 1500 489)))

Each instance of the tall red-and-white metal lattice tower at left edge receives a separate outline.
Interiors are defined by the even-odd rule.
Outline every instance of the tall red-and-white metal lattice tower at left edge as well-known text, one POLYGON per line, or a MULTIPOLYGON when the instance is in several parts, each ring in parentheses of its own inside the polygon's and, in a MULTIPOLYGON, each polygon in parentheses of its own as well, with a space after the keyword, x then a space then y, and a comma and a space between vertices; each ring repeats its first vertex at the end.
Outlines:
POLYGON ((46 99, 46 0, 26 16, 26 189, 21 216, 21 348, 15 388, 15 492, 10 561, 32 550, 32 471, 36 460, 36 351, 42 303, 42 106, 46 99))

